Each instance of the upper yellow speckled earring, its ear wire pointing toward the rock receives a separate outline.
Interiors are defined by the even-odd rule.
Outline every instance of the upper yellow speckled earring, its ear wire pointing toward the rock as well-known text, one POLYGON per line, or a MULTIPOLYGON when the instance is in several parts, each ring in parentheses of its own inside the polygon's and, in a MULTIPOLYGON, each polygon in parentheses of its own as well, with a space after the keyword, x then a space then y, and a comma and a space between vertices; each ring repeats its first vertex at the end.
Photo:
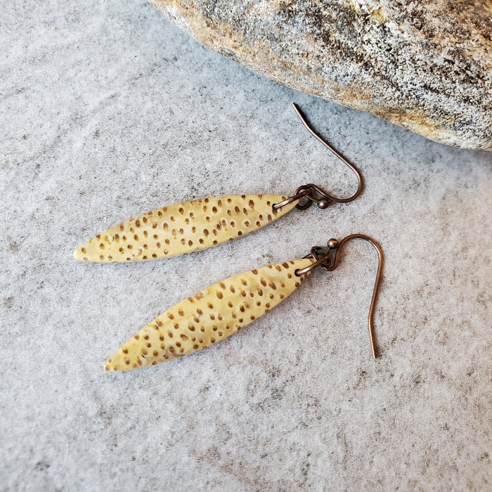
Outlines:
POLYGON ((177 203, 96 235, 75 250, 75 259, 107 263, 174 257, 246 235, 270 224, 294 207, 304 210, 314 202, 325 209, 330 202, 348 203, 355 200, 363 188, 361 174, 313 131, 294 103, 292 107, 306 129, 354 171, 358 181, 354 195, 336 198, 309 183, 299 186, 288 198, 282 195, 235 195, 177 203))

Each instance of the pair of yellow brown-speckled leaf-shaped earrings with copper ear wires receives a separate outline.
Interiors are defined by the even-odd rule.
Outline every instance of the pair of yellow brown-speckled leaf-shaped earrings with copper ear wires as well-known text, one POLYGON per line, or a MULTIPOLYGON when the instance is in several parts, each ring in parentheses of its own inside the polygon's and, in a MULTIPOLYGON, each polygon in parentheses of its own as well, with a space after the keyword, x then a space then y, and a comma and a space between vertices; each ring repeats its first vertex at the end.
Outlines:
MULTIPOLYGON (((357 177, 358 188, 349 198, 335 198, 314 184, 299 186, 294 195, 236 195, 191 200, 148 212, 96 235, 74 252, 75 259, 94 262, 145 261, 174 257, 233 240, 270 224, 290 210, 313 203, 325 209, 330 202, 347 203, 360 195, 358 170, 318 136, 294 103, 292 107, 306 129, 346 164, 357 177)), ((171 307, 131 337, 105 364, 108 371, 124 371, 192 354, 232 335, 288 297, 321 266, 333 271, 339 252, 349 240, 370 242, 378 255, 373 298, 368 316, 370 347, 376 358, 373 311, 382 271, 382 251, 377 242, 352 234, 328 247, 313 247, 302 259, 255 268, 207 287, 171 307)))

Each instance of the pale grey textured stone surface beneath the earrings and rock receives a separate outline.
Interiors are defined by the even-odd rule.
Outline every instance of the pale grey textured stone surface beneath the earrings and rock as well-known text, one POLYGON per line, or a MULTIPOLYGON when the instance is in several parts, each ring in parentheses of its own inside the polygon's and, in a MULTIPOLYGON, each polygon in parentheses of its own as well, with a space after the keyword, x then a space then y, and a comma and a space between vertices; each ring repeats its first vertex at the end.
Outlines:
POLYGON ((0 20, 3 490, 491 490, 492 157, 253 75, 143 0, 11 1, 0 20), (93 265, 72 250, 178 200, 338 193, 214 250, 93 265), (354 232, 284 304, 211 349, 105 359, 183 297, 354 232))

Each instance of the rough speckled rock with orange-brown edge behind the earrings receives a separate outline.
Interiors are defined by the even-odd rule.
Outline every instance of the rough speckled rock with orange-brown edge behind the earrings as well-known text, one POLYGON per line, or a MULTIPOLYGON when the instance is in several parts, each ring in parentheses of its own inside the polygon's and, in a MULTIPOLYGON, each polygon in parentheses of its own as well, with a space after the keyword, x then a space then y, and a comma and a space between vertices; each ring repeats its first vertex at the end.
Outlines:
POLYGON ((432 140, 492 149, 491 0, 150 0, 281 84, 432 140))

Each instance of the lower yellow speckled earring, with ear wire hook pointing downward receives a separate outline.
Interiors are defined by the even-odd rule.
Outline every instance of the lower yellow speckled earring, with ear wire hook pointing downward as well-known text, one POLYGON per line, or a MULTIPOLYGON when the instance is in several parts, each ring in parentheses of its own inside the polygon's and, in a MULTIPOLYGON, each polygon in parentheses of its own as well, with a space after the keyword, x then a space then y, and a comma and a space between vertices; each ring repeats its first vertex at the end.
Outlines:
POLYGON ((188 297, 128 339, 105 364, 105 370, 117 372, 155 365, 219 342, 292 294, 313 268, 335 270, 342 246, 355 238, 370 242, 378 256, 368 316, 370 348, 376 358, 373 312, 381 278, 382 250, 372 238, 352 234, 340 242, 331 239, 326 249, 313 247, 303 259, 240 273, 188 297))

